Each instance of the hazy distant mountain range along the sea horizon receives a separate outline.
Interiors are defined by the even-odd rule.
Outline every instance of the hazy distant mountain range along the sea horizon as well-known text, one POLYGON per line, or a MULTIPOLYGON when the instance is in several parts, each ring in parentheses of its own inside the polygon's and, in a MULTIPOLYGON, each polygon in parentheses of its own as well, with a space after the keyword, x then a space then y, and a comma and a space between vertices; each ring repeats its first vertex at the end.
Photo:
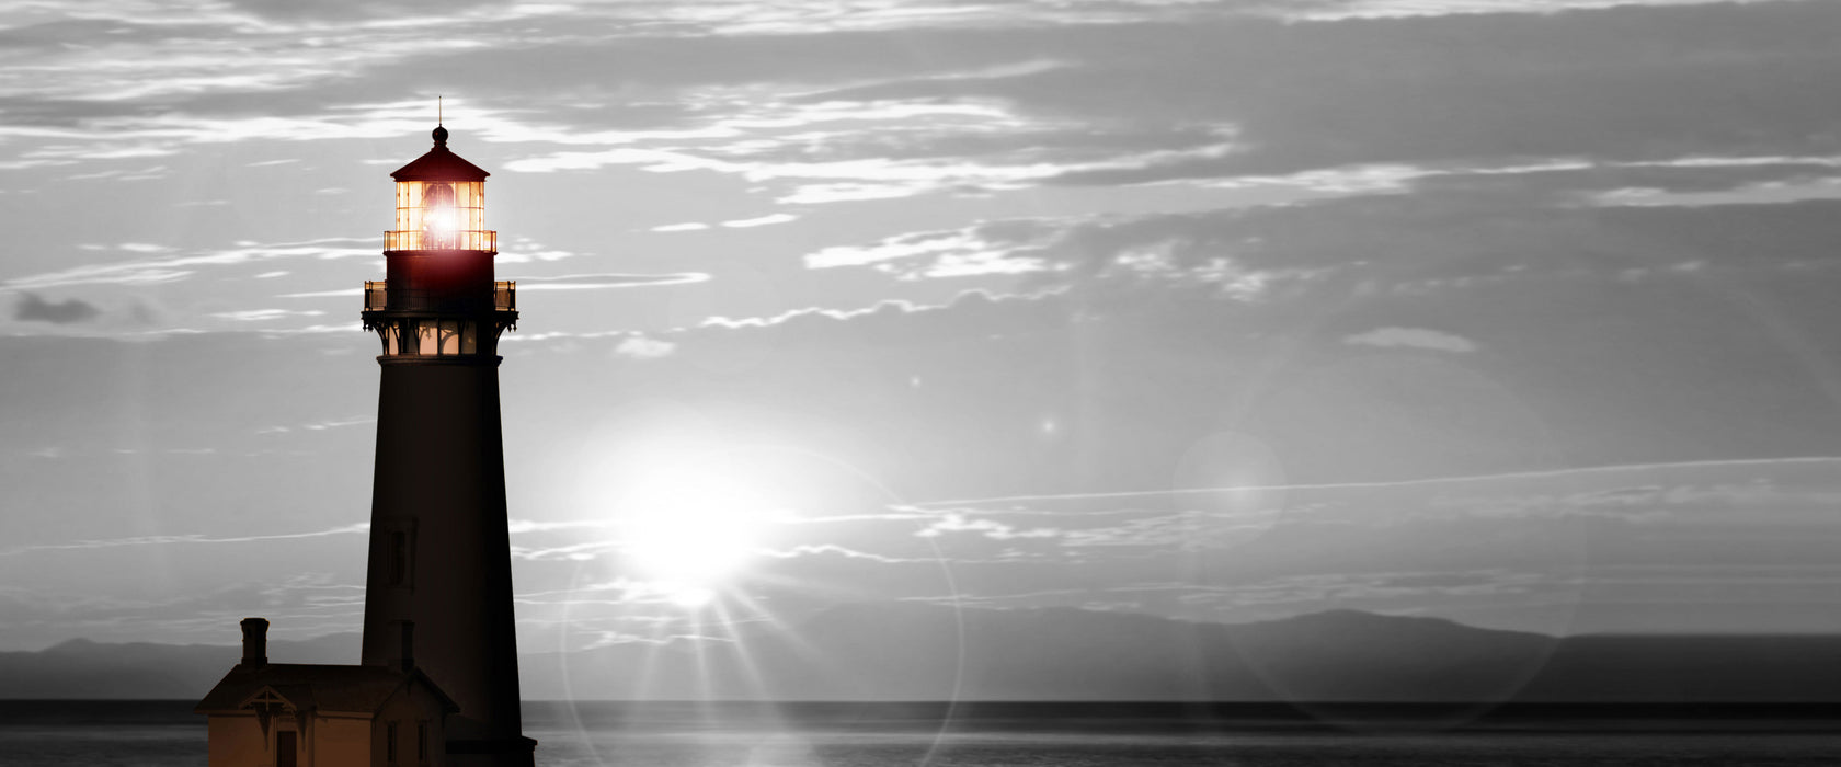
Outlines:
MULTIPOLYGON (((271 642, 353 662, 357 635, 271 642)), ((70 640, 0 653, 0 699, 193 699, 236 646, 70 640)), ((527 699, 1834 703, 1841 636, 1486 631, 1355 611, 1189 624, 1079 609, 873 603, 735 642, 527 653, 527 699), (701 649, 700 649, 701 647, 701 649)))

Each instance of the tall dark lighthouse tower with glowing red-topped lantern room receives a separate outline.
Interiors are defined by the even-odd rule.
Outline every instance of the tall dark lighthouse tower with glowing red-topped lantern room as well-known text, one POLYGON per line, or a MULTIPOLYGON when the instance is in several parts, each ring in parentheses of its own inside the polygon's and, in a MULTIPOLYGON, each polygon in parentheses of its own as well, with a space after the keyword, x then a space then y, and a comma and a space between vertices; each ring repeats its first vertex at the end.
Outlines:
POLYGON ((361 662, 401 662, 412 642, 458 706, 446 763, 525 767, 497 353, 515 285, 493 280, 486 171, 447 149, 447 129, 390 177, 396 228, 363 313, 383 353, 361 662))

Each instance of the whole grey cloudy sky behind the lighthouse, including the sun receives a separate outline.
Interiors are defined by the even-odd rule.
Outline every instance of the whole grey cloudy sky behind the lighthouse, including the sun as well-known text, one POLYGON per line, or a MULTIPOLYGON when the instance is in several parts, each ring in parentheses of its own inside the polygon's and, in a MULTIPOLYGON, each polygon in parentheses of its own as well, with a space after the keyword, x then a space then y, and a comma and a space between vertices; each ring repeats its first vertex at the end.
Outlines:
POLYGON ((525 649, 1841 631, 1835 83, 1834 2, 9 2, 0 649, 359 629, 436 97, 525 649))

